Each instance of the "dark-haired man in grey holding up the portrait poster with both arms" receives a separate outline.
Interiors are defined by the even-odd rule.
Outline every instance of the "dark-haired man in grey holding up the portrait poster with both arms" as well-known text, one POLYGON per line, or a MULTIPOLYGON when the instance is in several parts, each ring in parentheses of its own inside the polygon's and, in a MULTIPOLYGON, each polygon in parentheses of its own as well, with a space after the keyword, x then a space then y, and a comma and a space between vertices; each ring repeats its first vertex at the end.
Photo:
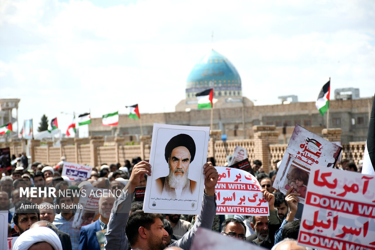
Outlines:
MULTIPOLYGON (((203 168, 205 189, 201 212, 197 216, 192 229, 170 246, 188 250, 198 227, 201 226, 207 229, 212 227, 216 214, 215 185, 219 175, 211 162, 205 163, 203 168)), ((135 164, 129 182, 124 188, 125 192, 121 193, 115 200, 107 233, 105 234, 107 239, 105 248, 108 250, 126 250, 126 235, 129 238, 132 249, 162 250, 166 247, 168 233, 163 229, 162 214, 145 214, 142 211, 138 211, 132 213, 129 217, 135 187, 139 184, 144 174, 151 175, 151 165, 145 161, 135 164), (125 224, 126 227, 124 227, 125 224)))

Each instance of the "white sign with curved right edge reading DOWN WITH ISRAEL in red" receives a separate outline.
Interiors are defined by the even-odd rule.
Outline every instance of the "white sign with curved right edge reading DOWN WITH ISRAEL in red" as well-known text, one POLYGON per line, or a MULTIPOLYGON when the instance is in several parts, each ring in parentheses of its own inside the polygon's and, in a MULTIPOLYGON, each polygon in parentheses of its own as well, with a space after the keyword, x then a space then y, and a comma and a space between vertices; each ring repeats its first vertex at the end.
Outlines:
POLYGON ((257 178, 230 167, 216 167, 216 170, 219 173, 215 187, 216 214, 270 214, 257 178))

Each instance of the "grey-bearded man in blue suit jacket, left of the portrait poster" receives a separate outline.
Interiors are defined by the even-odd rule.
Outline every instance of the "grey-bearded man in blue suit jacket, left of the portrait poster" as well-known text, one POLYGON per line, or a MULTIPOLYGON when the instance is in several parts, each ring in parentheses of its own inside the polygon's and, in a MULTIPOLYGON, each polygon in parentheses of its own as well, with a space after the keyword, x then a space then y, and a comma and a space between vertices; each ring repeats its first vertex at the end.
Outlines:
POLYGON ((110 219, 111 209, 115 197, 112 195, 102 196, 99 199, 99 220, 81 227, 80 232, 80 246, 79 250, 100 250, 100 245, 104 242, 99 243, 96 232, 107 229, 108 220, 110 219))

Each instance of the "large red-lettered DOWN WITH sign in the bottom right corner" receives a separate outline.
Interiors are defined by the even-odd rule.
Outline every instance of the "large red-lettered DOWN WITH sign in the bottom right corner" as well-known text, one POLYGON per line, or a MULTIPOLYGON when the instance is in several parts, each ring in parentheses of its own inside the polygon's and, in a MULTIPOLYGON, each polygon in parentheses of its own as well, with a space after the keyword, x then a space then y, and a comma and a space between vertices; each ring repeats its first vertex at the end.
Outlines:
POLYGON ((375 176, 315 167, 299 244, 319 249, 375 249, 375 176))

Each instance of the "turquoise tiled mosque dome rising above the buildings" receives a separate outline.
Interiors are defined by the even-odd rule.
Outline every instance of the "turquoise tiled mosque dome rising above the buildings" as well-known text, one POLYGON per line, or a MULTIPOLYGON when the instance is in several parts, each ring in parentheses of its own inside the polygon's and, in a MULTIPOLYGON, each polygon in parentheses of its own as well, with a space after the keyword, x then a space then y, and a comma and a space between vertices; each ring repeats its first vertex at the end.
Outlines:
POLYGON ((242 96, 241 78, 233 64, 220 53, 211 50, 197 63, 186 83, 186 99, 213 88, 214 96, 242 96))

